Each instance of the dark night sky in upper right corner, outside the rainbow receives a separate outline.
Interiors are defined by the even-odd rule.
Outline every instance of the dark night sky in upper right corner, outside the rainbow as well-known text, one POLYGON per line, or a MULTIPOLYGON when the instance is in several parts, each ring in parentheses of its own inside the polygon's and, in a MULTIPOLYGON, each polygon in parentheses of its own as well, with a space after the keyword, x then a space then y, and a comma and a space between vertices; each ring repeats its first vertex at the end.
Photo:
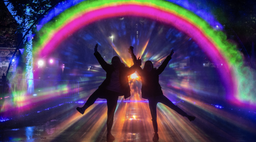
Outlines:
MULTIPOLYGON (((228 38, 232 39, 232 28, 242 43, 244 44, 249 56, 251 56, 252 42, 256 43, 256 1, 255 0, 211 0, 212 13, 217 20, 225 25, 225 32, 228 38), (228 25, 228 26, 227 26, 228 25)), ((242 48, 237 38, 233 40, 238 48, 242 48)))

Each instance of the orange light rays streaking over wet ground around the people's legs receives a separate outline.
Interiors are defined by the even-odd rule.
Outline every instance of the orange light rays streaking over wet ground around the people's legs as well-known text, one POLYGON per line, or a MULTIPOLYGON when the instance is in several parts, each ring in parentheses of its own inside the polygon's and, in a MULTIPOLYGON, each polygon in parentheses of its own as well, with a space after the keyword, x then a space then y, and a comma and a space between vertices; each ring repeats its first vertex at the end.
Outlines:
MULTIPOLYGON (((77 133, 82 132, 83 134, 77 138, 79 141, 97 139, 99 135, 106 133, 105 105, 94 104, 92 109, 86 110, 87 112, 83 116, 71 113, 72 117, 56 126, 60 131, 53 133, 52 137, 61 138, 61 133, 70 133, 70 130, 75 129, 77 133)), ((209 141, 207 137, 202 137, 202 135, 205 135, 203 131, 194 127, 187 118, 181 117, 162 104, 158 104, 158 108, 159 136, 162 141, 209 141), (191 135, 195 131, 198 135, 191 135)), ((137 141, 142 140, 140 137, 144 137, 143 141, 146 141, 152 139, 152 133, 153 126, 147 103, 118 103, 112 127, 112 134, 117 141, 136 141, 136 137, 138 138, 137 141), (124 131, 131 134, 120 133, 124 131)), ((75 138, 75 134, 71 133, 68 138, 75 138)))

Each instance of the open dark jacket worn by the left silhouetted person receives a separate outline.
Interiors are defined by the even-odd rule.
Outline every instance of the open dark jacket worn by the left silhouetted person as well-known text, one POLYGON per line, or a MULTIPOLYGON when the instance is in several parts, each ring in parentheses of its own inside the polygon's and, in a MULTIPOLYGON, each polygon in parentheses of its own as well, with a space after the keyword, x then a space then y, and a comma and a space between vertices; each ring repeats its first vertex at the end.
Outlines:
MULTIPOLYGON (((98 60, 99 64, 106 71, 106 79, 102 82, 99 88, 105 88, 110 83, 111 74, 114 71, 114 67, 111 64, 106 63, 106 61, 102 58, 99 52, 95 52, 94 56, 98 60)), ((131 96, 131 88, 129 86, 128 76, 133 74, 137 69, 137 64, 134 64, 131 67, 123 67, 121 66, 119 69, 119 79, 121 83, 121 89, 123 90, 124 98, 128 98, 131 96)))

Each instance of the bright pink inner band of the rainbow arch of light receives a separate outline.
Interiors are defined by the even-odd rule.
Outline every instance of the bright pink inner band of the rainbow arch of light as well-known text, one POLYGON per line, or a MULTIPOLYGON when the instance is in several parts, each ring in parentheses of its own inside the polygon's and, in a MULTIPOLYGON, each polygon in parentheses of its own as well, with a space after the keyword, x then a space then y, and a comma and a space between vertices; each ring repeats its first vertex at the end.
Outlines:
POLYGON ((190 23, 184 17, 180 17, 176 13, 170 13, 154 7, 127 4, 114 7, 109 6, 96 9, 91 12, 82 13, 80 17, 70 21, 61 27, 59 31, 56 31, 53 38, 48 41, 44 48, 42 48, 40 56, 42 57, 48 55, 54 50, 54 48, 59 46, 63 40, 68 38, 71 33, 78 31, 80 28, 100 19, 118 16, 146 17, 164 24, 172 25, 173 27, 187 34, 199 45, 203 51, 205 51, 206 55, 212 61, 223 63, 223 68, 219 68, 219 74, 221 75, 223 84, 226 88, 227 99, 236 100, 234 98, 234 96, 237 94, 237 89, 234 87, 237 85, 236 81, 234 81, 236 80, 234 79, 236 77, 232 76, 229 63, 220 54, 218 47, 215 47, 214 43, 212 43, 212 41, 208 39, 198 27, 196 27, 196 24, 190 23))

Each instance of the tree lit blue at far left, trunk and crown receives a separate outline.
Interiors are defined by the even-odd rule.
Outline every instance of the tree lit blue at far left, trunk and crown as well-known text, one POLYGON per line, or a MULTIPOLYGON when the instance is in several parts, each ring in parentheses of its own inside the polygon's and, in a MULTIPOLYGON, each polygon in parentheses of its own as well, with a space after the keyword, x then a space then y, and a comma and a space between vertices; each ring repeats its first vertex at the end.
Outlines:
MULTIPOLYGON (((37 20, 46 9, 51 7, 51 3, 53 3, 53 0, 4 0, 4 4, 19 24, 17 31, 22 33, 23 36, 25 36, 27 30, 35 20, 37 20)), ((31 29, 23 40, 26 46, 26 79, 28 79, 28 93, 34 91, 32 39, 31 29)))

